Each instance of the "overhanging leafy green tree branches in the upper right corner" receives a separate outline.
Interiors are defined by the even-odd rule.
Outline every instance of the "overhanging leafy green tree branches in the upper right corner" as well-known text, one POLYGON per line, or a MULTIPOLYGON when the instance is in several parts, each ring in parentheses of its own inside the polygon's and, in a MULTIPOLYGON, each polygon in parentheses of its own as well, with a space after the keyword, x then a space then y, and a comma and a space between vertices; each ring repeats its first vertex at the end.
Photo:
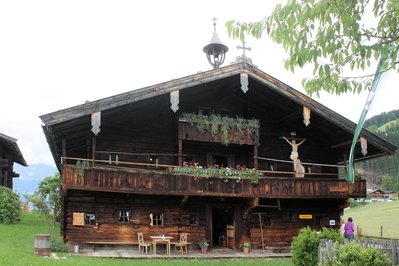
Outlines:
POLYGON ((303 79, 308 94, 368 89, 378 58, 388 60, 382 72, 398 71, 399 1, 288 0, 256 23, 226 23, 233 38, 261 38, 264 31, 288 52, 285 67, 313 64, 313 78, 303 79), (348 72, 365 72, 352 76, 348 72))

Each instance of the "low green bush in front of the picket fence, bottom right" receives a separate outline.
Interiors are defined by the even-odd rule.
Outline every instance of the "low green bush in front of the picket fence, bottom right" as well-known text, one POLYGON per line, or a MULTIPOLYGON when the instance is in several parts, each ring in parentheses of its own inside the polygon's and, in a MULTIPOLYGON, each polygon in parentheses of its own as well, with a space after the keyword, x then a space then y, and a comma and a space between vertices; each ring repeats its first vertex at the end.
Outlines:
POLYGON ((376 248, 364 248, 361 244, 349 242, 336 249, 335 257, 328 261, 331 266, 389 266, 386 254, 381 254, 376 248))

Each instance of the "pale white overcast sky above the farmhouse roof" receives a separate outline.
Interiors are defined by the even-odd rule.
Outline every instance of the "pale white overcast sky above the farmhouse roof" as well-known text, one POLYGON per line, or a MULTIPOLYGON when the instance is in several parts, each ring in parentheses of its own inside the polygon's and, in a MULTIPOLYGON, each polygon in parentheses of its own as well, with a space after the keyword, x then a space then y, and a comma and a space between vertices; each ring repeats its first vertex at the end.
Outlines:
MULTIPOLYGON (((280 1, 0 1, 0 133, 18 139, 28 164, 54 165, 39 118, 53 111, 210 70, 202 48, 217 33, 242 54, 225 22, 259 21, 280 1)), ((247 39, 253 64, 304 92, 311 67, 284 69, 284 49, 247 39)), ((381 82, 367 117, 399 108, 398 75, 381 82)), ((367 93, 316 101, 357 123, 367 93)))

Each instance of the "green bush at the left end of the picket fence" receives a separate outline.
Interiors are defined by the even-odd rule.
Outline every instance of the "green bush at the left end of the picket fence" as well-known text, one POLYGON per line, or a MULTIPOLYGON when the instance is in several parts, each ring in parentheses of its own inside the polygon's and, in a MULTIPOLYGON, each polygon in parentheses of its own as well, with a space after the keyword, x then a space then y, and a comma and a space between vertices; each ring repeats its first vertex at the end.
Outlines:
POLYGON ((318 232, 310 227, 304 227, 299 231, 298 236, 294 237, 291 244, 293 263, 300 266, 317 265, 317 250, 322 238, 343 241, 343 237, 337 230, 323 228, 318 232))

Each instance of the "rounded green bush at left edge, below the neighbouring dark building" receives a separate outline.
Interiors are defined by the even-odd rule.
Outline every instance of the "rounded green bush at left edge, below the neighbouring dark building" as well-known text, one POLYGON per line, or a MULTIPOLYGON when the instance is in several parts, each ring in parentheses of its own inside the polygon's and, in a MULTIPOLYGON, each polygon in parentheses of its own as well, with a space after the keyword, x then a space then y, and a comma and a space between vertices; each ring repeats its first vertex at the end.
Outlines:
POLYGON ((12 189, 0 186, 0 223, 14 223, 20 215, 18 195, 12 189))

